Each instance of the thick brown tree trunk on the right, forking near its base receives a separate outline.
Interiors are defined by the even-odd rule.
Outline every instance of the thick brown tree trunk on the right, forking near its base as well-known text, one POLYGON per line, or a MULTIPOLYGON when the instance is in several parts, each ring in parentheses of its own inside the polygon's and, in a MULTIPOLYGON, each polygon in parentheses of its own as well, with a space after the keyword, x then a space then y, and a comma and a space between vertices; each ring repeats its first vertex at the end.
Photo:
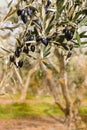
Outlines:
MULTIPOLYGON (((63 111, 65 115, 65 123, 68 125, 69 130, 80 130, 80 124, 82 123, 82 120, 78 115, 78 107, 80 104, 79 101, 73 103, 70 97, 64 55, 60 53, 57 49, 55 49, 54 53, 59 60, 60 71, 57 71, 57 69, 55 70, 60 74, 59 83, 61 85, 62 95, 65 100, 65 106, 62 106, 59 100, 55 102, 63 111)), ((54 99, 56 99, 56 96, 58 97, 58 95, 55 94, 54 99)))

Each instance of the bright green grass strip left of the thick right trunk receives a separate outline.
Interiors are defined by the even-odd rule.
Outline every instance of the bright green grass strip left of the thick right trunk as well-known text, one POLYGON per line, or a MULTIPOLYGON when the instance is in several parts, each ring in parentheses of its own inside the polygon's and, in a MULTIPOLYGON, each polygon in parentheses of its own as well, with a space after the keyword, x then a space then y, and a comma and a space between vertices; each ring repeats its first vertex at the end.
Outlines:
POLYGON ((49 103, 14 103, 0 105, 0 118, 63 115, 58 106, 49 103))

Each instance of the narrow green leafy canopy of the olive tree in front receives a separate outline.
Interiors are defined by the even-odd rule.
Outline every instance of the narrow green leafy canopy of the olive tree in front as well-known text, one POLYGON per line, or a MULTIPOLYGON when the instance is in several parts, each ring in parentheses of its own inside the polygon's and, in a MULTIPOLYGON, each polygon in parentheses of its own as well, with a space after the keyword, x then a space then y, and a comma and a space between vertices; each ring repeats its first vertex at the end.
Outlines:
MULTIPOLYGON (((51 1, 50 4, 46 0, 38 2, 36 0, 27 2, 19 0, 15 6, 12 7, 11 4, 12 1, 8 4, 9 11, 4 17, 3 23, 6 20, 9 21, 14 14, 23 23, 23 31, 20 31, 19 36, 15 38, 17 40, 16 49, 17 46, 20 46, 21 52, 17 55, 15 55, 16 49, 13 52, 14 64, 17 67, 20 68, 17 59, 21 57, 24 60, 25 55, 35 61, 39 57, 39 62, 43 59, 42 63, 48 67, 49 65, 46 63, 48 61, 45 60, 53 51, 52 48, 56 46, 58 49, 62 48, 66 55, 71 44, 74 48, 86 44, 81 41, 81 38, 86 36, 78 32, 80 27, 87 25, 87 3, 85 0, 83 2, 82 0, 56 0, 51 1), (22 9, 20 9, 21 4, 22 9), (30 39, 30 36, 33 39, 30 39), (40 36, 39 40, 37 40, 38 36, 40 36), (23 48, 26 45, 28 45, 29 51, 23 54, 23 48), (35 47, 33 52, 31 52, 31 46, 35 47)), ((13 27, 4 29, 14 30, 13 27)), ((6 52, 10 53, 9 50, 6 52)))

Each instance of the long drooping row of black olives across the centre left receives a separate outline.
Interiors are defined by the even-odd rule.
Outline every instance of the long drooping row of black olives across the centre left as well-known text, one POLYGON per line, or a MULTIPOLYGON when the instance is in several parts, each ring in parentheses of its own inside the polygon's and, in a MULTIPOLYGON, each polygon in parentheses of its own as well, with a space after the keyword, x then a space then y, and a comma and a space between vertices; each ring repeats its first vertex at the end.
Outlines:
POLYGON ((25 53, 26 55, 28 55, 30 51, 35 52, 36 45, 39 45, 39 43, 42 43, 44 46, 48 46, 49 41, 55 38, 56 36, 57 33, 53 33, 52 36, 48 37, 37 35, 35 39, 34 34, 26 34, 24 38, 24 44, 17 46, 14 54, 10 55, 10 62, 14 63, 17 67, 22 67, 22 59, 16 62, 16 59, 20 57, 21 53, 25 53), (32 41, 35 41, 35 44, 32 44, 32 41))

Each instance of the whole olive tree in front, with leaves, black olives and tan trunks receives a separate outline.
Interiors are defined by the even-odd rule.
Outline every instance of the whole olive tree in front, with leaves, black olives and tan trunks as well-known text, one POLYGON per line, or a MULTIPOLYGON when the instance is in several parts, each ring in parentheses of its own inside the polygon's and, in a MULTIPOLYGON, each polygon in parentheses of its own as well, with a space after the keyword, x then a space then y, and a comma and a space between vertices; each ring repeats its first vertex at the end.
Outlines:
MULTIPOLYGON (((32 67, 29 70, 26 85, 22 88, 22 97, 26 97, 31 75, 36 70, 44 70, 46 82, 55 99, 55 103, 63 111, 66 122, 72 129, 81 119, 78 117, 80 100, 72 101, 68 80, 67 63, 73 55, 75 48, 85 47, 87 41, 86 30, 79 33, 79 29, 87 26, 87 1, 86 0, 18 0, 12 6, 8 4, 9 11, 1 20, 1 25, 11 21, 13 26, 1 26, 0 29, 14 31, 20 28, 14 36, 16 44, 14 48, 3 48, 8 53, 9 63, 17 70, 22 68, 25 61, 29 60, 32 67), (59 63, 57 66, 56 62, 59 63), (53 82, 52 69, 59 74, 58 86, 60 85, 65 103, 61 103, 55 82, 53 82)), ((19 79, 19 73, 17 73, 19 79)), ((79 123, 78 123, 79 122, 79 123)))

